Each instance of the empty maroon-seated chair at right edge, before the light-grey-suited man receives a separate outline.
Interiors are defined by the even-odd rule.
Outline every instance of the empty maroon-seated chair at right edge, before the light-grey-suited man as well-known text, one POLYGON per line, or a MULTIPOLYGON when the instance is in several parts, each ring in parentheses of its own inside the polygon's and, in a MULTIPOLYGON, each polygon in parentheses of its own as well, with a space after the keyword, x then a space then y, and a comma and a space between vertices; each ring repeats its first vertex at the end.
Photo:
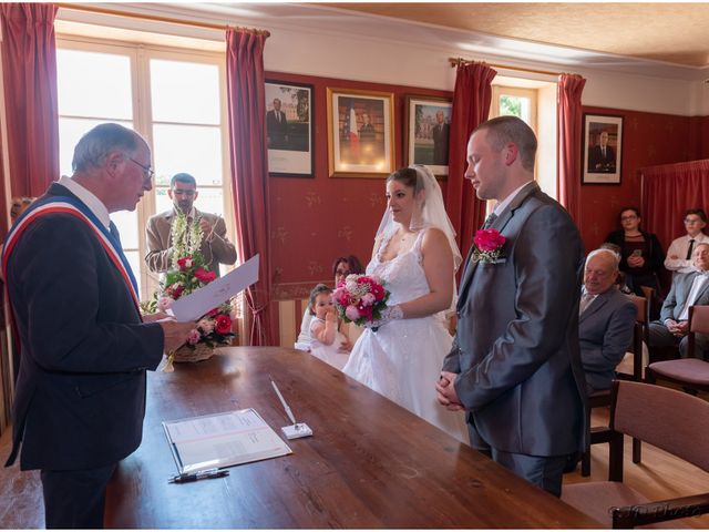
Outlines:
POLYGON ((687 338, 687 357, 678 360, 653 362, 647 368, 647 380, 656 382, 665 380, 690 390, 709 391, 709 362, 707 354, 698 357, 697 334, 709 335, 709 305, 689 307, 689 335, 687 338))

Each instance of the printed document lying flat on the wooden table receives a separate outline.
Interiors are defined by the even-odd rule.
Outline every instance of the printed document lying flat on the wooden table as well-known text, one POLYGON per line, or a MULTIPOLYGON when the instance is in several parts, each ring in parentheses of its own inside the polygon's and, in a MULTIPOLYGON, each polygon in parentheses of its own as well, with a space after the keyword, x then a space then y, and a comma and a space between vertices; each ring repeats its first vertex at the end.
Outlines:
POLYGON ((179 473, 227 468, 292 451, 254 410, 164 421, 179 473))

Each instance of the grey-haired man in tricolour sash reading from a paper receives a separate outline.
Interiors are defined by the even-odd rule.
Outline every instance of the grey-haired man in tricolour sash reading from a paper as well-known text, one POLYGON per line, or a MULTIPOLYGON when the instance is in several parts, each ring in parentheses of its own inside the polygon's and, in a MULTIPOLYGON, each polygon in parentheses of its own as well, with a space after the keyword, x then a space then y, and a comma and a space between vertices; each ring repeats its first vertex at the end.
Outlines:
POLYGON ((48 529, 99 529, 109 479, 141 443, 145 370, 184 344, 194 324, 141 317, 109 218, 134 211, 152 188, 145 141, 119 124, 97 125, 76 144, 72 167, 6 239, 21 349, 7 466, 21 444, 21 469, 41 470, 48 529))

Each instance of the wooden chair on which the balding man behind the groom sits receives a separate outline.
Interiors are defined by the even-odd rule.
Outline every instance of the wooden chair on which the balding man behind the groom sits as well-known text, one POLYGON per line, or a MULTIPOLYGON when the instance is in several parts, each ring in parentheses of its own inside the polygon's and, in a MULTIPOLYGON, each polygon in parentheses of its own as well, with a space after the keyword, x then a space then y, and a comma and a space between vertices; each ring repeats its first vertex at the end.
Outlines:
MULTIPOLYGON (((648 301, 644 297, 636 295, 627 296, 635 303, 637 307, 637 316, 635 327, 633 329, 633 345, 629 349, 633 354, 633 367, 627 368, 625 359, 616 368, 616 377, 624 380, 643 380, 643 341, 647 344, 647 324, 648 324, 648 301), (629 371, 628 371, 629 369, 629 371)), ((588 396, 588 409, 586 410, 586 422, 590 427, 590 412, 594 408, 610 406, 610 389, 599 390, 588 396)), ((590 446, 595 443, 608 443, 610 441, 612 431, 609 427, 590 427, 589 446, 580 456, 580 474, 582 477, 590 475, 590 446)), ((640 462, 640 441, 633 440, 633 461, 640 462), (637 458, 637 461, 636 461, 637 458)))

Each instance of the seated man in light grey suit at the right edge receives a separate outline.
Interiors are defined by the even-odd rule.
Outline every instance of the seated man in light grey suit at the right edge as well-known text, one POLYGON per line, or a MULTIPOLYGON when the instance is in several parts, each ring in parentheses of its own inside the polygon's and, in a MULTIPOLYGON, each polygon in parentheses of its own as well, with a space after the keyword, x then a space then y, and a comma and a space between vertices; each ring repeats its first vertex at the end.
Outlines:
MULTIPOLYGON (((650 324, 650 347, 679 346, 679 354, 687 357, 689 307, 709 305, 709 244, 698 244, 693 252, 695 272, 678 275, 665 299, 660 319, 650 324)), ((696 335, 698 352, 707 352, 709 337, 696 335)))

